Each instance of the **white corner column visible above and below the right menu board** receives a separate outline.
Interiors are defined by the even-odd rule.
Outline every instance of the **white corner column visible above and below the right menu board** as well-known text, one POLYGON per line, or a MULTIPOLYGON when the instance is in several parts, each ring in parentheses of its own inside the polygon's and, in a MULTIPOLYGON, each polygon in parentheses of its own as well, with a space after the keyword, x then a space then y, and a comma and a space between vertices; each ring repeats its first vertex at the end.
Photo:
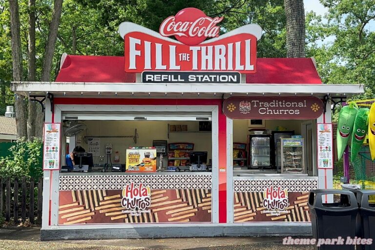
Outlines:
MULTIPOLYGON (((331 100, 326 104, 326 113, 323 113, 317 120, 317 123, 331 123, 331 100)), ((316 163, 316 168, 318 163, 316 163)), ((318 188, 333 188, 333 169, 317 169, 318 171, 318 188)), ((332 202, 333 196, 327 195, 326 202, 332 202)))

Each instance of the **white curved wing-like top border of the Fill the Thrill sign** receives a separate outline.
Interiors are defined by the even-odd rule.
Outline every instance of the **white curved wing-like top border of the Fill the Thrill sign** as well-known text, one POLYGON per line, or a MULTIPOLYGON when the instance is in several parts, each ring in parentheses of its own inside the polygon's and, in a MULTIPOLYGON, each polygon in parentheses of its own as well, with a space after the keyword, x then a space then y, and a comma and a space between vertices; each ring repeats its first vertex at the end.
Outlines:
MULTIPOLYGON (((141 26, 141 25, 133 23, 133 22, 125 21, 125 22, 122 22, 119 26, 119 34, 120 34, 122 39, 124 39, 126 34, 128 34, 130 32, 134 32, 134 31, 143 32, 143 33, 149 34, 149 35, 154 36, 156 38, 163 39, 163 40, 168 41, 168 42, 183 44, 183 43, 181 43, 179 41, 176 41, 176 40, 173 40, 171 38, 163 37, 162 35, 160 35, 160 33, 155 32, 153 30, 150 30, 150 29, 148 29, 144 26, 141 26)), ((254 35, 256 37, 256 40, 259 40, 262 37, 263 29, 258 24, 255 24, 255 23, 246 24, 244 26, 241 26, 239 28, 231 30, 231 31, 219 36, 219 37, 212 38, 212 39, 206 40, 204 42, 201 42, 200 44, 206 44, 206 43, 209 43, 209 42, 219 41, 221 39, 224 39, 224 38, 227 38, 227 37, 230 37, 230 36, 234 36, 234 35, 238 35, 238 34, 243 34, 243 33, 254 35)), ((197 45, 199 45, 199 44, 197 44, 197 45)), ((194 46, 197 46, 197 45, 194 45, 194 46)))

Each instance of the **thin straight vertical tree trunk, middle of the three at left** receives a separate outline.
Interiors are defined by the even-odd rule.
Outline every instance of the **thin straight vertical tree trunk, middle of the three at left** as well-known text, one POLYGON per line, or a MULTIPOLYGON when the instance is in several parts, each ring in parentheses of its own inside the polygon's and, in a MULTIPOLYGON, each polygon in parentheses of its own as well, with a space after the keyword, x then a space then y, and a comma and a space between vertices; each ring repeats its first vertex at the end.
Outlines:
MULTIPOLYGON (((27 69, 28 69, 28 81, 35 81, 35 0, 29 0, 29 37, 28 37, 28 60, 27 60, 27 69)), ((35 137, 35 119, 37 112, 36 102, 29 102, 29 115, 27 120, 27 137, 29 140, 32 140, 35 137)))

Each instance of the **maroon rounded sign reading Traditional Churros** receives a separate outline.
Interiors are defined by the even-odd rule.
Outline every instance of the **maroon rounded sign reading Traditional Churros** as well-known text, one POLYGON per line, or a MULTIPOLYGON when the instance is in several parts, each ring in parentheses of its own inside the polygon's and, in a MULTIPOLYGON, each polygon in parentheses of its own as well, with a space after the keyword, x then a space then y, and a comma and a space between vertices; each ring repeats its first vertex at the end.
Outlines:
POLYGON ((313 96, 229 97, 223 112, 231 119, 316 119, 323 107, 313 96))

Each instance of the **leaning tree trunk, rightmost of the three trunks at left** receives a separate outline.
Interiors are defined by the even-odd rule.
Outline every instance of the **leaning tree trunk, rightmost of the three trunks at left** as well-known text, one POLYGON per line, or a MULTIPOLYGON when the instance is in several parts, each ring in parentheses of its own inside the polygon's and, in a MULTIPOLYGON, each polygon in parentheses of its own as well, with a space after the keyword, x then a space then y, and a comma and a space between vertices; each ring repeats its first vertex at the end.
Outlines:
MULTIPOLYGON (((42 68, 42 82, 49 82, 51 76, 53 53, 55 52, 55 42, 57 38, 57 31, 59 29, 60 17, 62 10, 62 0, 55 0, 52 10, 52 20, 49 26, 49 34, 47 44, 44 51, 44 61, 42 68)), ((44 112, 40 105, 37 105, 36 120, 35 120, 35 136, 42 137, 43 134, 44 112)))

